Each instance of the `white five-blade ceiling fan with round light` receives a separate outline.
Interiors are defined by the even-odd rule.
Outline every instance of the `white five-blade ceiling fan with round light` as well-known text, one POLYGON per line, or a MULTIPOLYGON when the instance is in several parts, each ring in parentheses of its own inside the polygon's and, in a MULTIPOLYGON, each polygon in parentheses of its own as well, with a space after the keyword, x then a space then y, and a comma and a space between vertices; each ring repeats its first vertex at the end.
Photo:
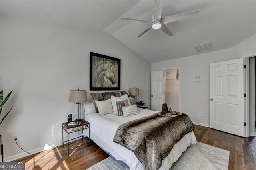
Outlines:
POLYGON ((151 26, 148 27, 144 32, 142 32, 138 37, 141 37, 143 34, 145 34, 148 30, 151 28, 155 30, 162 30, 164 33, 166 33, 168 36, 172 36, 172 32, 169 30, 169 28, 165 25, 170 22, 182 20, 184 18, 188 18, 190 16, 196 16, 199 14, 199 11, 193 11, 193 12, 185 12, 182 14, 176 14, 171 16, 162 16, 162 8, 163 8, 164 0, 156 0, 156 10, 155 13, 152 16, 152 21, 146 21, 146 20, 140 20, 140 19, 134 19, 134 18, 124 18, 121 17, 121 20, 132 20, 132 21, 140 21, 140 22, 151 22, 151 26))

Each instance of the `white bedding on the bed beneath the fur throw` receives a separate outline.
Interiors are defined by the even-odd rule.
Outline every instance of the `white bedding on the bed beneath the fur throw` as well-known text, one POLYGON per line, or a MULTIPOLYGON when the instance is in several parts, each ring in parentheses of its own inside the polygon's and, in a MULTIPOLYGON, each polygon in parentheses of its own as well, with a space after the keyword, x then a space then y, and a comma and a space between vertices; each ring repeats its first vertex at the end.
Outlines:
MULTIPOLYGON (((130 167, 130 170, 142 170, 145 168, 135 156, 134 152, 114 143, 113 138, 117 128, 122 123, 152 115, 153 113, 157 113, 157 111, 138 108, 138 113, 138 115, 131 115, 129 117, 116 116, 113 114, 99 116, 98 113, 85 115, 85 120, 91 123, 90 138, 103 150, 116 158, 116 160, 126 163, 130 167)), ((83 135, 88 136, 88 130, 86 130, 83 135)), ((168 170, 190 144, 196 144, 194 132, 186 134, 186 136, 174 145, 170 154, 162 161, 160 170, 168 170)))

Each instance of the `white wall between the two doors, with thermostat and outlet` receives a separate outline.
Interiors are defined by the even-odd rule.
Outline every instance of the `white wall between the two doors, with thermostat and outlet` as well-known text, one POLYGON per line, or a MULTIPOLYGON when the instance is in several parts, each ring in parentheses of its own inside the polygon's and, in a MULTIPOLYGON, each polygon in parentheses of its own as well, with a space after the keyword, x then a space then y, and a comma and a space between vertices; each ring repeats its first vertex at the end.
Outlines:
POLYGON ((256 53, 256 35, 233 48, 152 63, 151 71, 180 67, 180 90, 184 91, 180 95, 182 112, 187 113, 194 122, 209 125, 209 64, 241 58, 252 53, 256 53), (200 82, 196 82, 195 75, 200 75, 200 82), (202 112, 202 117, 198 116, 198 112, 202 112))

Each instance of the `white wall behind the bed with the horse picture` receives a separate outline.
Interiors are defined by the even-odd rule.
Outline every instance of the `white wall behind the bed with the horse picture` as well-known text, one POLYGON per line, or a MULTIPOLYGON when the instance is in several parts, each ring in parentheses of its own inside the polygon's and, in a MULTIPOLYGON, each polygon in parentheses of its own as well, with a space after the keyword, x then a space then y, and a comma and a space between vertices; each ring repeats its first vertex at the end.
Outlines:
POLYGON ((138 100, 150 109, 150 63, 110 34, 0 16, 0 89, 13 90, 3 113, 14 105, 0 125, 6 160, 24 156, 12 134, 26 150, 61 143, 61 123, 75 112, 69 90, 89 90, 90 51, 120 58, 121 90, 140 88, 138 100))

